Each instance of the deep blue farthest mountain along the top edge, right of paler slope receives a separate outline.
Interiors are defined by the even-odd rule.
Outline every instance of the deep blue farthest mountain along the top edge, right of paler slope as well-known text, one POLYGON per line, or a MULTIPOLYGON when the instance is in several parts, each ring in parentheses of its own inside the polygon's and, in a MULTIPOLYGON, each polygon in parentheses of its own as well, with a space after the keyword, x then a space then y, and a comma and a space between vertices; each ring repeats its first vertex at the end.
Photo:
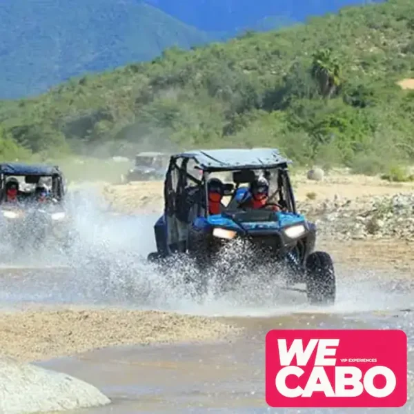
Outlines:
POLYGON ((206 32, 236 32, 257 27, 265 18, 303 22, 309 16, 337 12, 345 6, 382 0, 146 0, 171 16, 206 32))

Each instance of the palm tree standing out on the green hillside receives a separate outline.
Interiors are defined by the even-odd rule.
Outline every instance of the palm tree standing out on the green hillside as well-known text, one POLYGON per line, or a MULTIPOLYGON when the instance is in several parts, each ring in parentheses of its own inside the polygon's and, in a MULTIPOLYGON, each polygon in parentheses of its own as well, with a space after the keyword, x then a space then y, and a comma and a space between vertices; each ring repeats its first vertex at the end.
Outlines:
POLYGON ((332 54, 332 49, 318 50, 313 54, 312 76, 323 97, 331 97, 341 83, 341 66, 332 54))

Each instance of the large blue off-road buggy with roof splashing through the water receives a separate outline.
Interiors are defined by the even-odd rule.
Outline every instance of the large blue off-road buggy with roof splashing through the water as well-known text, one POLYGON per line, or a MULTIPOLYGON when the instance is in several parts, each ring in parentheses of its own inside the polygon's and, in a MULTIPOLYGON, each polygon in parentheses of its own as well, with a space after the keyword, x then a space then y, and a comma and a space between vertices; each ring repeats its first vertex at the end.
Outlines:
MULTIPOLYGON (((244 270, 250 266, 254 270, 257 262, 271 269, 282 265, 285 288, 301 290, 293 285, 305 284, 301 291, 309 302, 333 304, 333 261, 328 253, 314 251, 315 224, 296 211, 288 164, 288 159, 271 148, 195 150, 172 155, 164 182, 164 214, 154 227, 157 252, 150 253, 148 260, 169 266, 177 255, 188 255, 195 259, 201 274, 207 275, 223 248, 242 242, 254 253, 246 260, 237 257, 244 270), (259 175, 275 189, 270 186, 264 208, 246 208, 245 201, 251 197, 249 184, 259 175), (224 180, 223 195, 228 203, 221 204, 221 213, 210 214, 208 181, 219 176, 224 180), (278 206, 278 211, 268 209, 270 206, 278 206)), ((234 272, 226 269, 223 273, 230 284, 237 282, 234 272)))

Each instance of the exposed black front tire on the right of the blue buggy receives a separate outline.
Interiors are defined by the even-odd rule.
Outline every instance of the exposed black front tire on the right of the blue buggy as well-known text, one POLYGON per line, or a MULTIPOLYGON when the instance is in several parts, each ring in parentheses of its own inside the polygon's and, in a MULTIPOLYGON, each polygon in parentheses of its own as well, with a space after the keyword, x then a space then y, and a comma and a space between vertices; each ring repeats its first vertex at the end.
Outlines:
POLYGON ((306 295, 311 304, 335 302, 336 279, 333 260, 328 253, 314 252, 306 259, 306 295))

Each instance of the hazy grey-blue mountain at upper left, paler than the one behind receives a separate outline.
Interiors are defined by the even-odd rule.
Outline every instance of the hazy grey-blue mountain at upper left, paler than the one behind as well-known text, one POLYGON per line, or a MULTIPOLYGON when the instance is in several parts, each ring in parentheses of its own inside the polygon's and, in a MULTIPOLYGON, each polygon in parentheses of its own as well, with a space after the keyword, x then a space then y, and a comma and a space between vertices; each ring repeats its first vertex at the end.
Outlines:
POLYGON ((2 98, 34 95, 82 72, 210 40, 135 0, 2 0, 0 21, 2 98))

